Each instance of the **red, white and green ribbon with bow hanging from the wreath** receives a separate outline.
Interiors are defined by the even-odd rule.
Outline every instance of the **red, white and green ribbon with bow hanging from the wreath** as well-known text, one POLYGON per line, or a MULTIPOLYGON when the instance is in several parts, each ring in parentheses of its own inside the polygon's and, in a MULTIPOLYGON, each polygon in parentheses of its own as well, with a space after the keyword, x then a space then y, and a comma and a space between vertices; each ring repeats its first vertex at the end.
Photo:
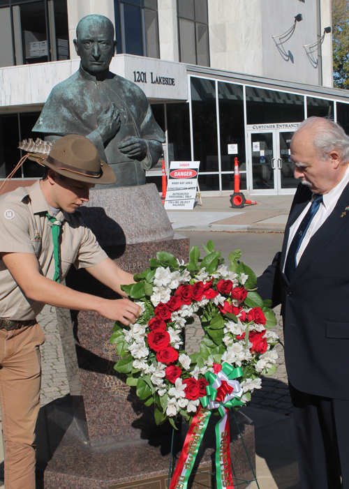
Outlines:
POLYGON ((218 409, 222 416, 215 428, 217 489, 234 489, 230 464, 228 409, 244 404, 240 400, 242 389, 235 380, 242 375, 241 368, 233 368, 229 363, 214 363, 214 373, 205 374, 209 382, 206 387, 207 396, 200 398, 201 406, 198 407, 189 427, 169 489, 186 489, 212 409, 218 409))

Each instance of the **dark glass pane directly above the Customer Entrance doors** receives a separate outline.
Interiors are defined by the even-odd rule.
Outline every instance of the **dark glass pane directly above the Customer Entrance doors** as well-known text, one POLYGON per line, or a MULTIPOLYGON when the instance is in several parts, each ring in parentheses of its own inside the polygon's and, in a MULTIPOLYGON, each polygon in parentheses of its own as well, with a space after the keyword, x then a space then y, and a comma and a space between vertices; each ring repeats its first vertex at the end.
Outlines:
POLYGON ((304 96, 246 86, 248 124, 302 122, 304 96))

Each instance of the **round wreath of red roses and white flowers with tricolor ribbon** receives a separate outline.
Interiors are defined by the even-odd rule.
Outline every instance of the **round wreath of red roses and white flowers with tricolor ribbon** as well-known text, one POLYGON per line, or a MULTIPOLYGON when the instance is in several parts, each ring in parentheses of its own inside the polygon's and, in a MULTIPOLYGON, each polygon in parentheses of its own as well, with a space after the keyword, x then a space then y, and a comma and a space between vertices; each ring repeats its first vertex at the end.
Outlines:
POLYGON ((279 337, 270 331, 276 317, 272 301, 255 292, 255 273, 232 251, 225 266, 214 243, 193 246, 187 264, 166 252, 150 259, 149 269, 121 288, 142 313, 135 324, 114 324, 110 341, 121 358, 114 369, 127 375, 147 406, 154 405, 157 424, 177 416, 190 423, 170 489, 186 488, 209 416, 216 425, 217 487, 232 488, 228 408, 251 400, 261 375, 276 371, 279 337), (188 355, 182 331, 200 317, 205 335, 200 352, 188 355))

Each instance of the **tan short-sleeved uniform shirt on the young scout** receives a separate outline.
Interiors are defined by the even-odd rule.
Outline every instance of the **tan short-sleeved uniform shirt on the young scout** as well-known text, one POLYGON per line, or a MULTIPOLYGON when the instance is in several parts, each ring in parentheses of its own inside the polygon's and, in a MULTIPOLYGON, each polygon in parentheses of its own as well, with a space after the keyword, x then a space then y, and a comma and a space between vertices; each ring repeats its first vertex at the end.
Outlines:
MULTIPOLYGON (((17 188, 0 196, 0 252, 33 253, 38 258, 43 276, 53 278, 54 258, 52 216, 40 188, 40 181, 27 188, 17 188)), ((96 236, 82 221, 81 213, 59 213, 61 230, 61 281, 71 264, 75 268, 98 265, 107 258, 96 236)), ((34 319, 45 304, 28 299, 0 259, 0 318, 34 319)))

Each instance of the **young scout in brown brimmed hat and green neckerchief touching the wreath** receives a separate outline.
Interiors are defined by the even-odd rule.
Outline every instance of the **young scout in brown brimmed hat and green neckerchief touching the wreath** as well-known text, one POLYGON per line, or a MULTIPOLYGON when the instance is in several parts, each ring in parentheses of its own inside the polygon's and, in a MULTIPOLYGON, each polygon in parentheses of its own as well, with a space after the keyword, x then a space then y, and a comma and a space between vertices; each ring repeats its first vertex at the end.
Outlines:
POLYGON ((108 258, 79 212, 96 183, 114 172, 84 136, 57 141, 42 180, 0 197, 0 405, 5 440, 5 488, 35 488, 34 428, 40 407, 40 345, 36 315, 45 304, 96 311, 124 324, 140 308, 128 299, 107 300, 61 285, 71 264, 86 268, 121 296, 133 282, 108 258))

